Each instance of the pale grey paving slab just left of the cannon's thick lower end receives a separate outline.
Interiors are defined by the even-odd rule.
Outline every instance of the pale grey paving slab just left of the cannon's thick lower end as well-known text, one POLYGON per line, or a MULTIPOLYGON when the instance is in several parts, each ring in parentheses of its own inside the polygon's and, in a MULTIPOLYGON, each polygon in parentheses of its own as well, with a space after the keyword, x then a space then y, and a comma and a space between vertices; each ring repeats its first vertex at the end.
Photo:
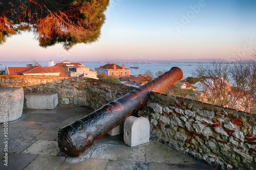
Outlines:
POLYGON ((23 153, 56 156, 59 153, 58 142, 50 140, 37 140, 29 148, 24 150, 23 153))

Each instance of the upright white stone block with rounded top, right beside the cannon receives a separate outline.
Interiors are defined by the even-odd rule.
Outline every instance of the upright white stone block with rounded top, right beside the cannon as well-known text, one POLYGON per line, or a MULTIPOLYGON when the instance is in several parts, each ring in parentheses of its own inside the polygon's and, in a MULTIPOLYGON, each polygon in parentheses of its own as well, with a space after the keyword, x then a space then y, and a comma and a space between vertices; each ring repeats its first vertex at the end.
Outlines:
POLYGON ((150 141, 150 121, 145 117, 129 116, 124 121, 124 143, 130 147, 150 141))

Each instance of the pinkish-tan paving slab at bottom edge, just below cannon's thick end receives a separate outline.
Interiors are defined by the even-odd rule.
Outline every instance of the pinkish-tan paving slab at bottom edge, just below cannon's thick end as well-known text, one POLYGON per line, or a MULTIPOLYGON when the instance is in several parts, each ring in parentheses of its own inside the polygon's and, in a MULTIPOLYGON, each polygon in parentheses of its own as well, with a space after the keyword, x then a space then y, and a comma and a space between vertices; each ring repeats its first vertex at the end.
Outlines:
POLYGON ((107 160, 84 159, 69 157, 59 166, 59 170, 79 169, 79 170, 105 170, 107 160))

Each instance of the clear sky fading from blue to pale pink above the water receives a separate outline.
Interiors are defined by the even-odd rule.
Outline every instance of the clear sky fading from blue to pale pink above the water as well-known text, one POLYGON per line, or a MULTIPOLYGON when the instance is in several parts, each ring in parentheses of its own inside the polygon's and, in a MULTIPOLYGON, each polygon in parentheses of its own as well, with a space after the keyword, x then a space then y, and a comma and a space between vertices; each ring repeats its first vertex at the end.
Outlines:
POLYGON ((0 62, 251 59, 255 8, 253 0, 110 0, 98 41, 66 51, 24 32, 0 45, 0 62))

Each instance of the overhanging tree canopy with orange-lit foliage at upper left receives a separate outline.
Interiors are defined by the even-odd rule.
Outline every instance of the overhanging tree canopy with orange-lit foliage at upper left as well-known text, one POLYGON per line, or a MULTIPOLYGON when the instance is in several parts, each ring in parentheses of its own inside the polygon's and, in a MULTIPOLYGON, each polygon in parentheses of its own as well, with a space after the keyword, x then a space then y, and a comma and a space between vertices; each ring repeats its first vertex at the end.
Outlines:
POLYGON ((0 44, 20 31, 33 31, 40 46, 98 40, 109 0, 1 0, 0 44))

